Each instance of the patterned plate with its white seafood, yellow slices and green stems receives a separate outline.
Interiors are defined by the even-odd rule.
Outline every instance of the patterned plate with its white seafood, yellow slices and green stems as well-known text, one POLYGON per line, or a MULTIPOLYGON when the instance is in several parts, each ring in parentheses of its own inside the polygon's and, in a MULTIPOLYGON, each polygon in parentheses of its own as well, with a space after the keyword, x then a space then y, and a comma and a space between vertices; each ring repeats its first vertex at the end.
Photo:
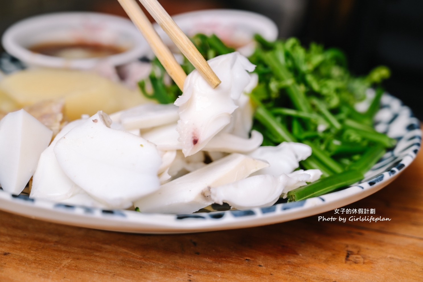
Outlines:
MULTIPOLYGON (((218 35, 192 36, 215 89, 184 59, 183 91, 157 59, 137 62, 148 73, 135 90, 87 71, 6 74, 0 208, 121 232, 246 228, 358 201, 414 160, 420 124, 383 90, 388 68, 357 77, 338 49, 252 41, 246 57, 218 35), (55 94, 34 100, 45 85, 55 94)), ((22 67, 2 58, 0 69, 22 67)))

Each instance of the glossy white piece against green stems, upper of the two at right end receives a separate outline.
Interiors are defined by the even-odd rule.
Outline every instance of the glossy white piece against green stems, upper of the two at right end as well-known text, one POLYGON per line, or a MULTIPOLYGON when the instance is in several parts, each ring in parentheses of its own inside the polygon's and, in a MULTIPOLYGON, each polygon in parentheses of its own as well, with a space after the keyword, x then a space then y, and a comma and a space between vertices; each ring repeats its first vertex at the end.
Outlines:
POLYGON ((270 164, 268 168, 257 171, 255 175, 270 174, 278 176, 291 173, 298 168, 299 161, 305 160, 311 155, 311 148, 301 143, 283 142, 278 146, 259 147, 248 155, 270 164))

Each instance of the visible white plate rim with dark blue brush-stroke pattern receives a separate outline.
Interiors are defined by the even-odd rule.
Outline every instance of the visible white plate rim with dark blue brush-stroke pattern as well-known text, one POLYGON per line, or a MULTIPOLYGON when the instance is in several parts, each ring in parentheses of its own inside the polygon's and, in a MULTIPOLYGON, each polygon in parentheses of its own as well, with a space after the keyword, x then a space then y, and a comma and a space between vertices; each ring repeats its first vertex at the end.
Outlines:
POLYGON ((134 233, 188 233, 246 228, 308 217, 327 212, 375 193, 392 182, 414 160, 421 143, 418 119, 400 100, 385 94, 376 115, 376 130, 398 140, 395 148, 368 171, 366 179, 352 187, 292 203, 279 203, 247 211, 195 214, 142 214, 105 210, 30 199, 0 190, 0 209, 50 222, 102 230, 134 233))

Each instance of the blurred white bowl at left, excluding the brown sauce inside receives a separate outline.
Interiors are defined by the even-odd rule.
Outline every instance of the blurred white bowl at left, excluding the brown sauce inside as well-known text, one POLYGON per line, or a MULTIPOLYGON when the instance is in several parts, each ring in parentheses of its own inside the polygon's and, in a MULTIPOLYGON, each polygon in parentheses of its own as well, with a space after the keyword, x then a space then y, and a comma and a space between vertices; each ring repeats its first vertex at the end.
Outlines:
POLYGON ((9 54, 29 66, 52 68, 93 68, 100 61, 123 65, 144 56, 149 46, 129 19, 91 12, 67 12, 33 16, 13 24, 2 38, 9 54), (115 45, 126 51, 107 57, 64 59, 28 50, 42 43, 98 43, 115 45))

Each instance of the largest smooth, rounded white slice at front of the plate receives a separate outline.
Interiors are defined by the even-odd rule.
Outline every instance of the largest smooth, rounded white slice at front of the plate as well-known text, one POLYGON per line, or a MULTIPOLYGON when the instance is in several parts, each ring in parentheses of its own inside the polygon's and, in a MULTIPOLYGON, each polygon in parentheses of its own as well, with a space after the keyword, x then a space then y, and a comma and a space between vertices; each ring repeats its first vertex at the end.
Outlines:
POLYGON ((159 188, 161 164, 154 144, 113 130, 107 114, 99 111, 74 127, 54 147, 63 172, 97 201, 128 208, 132 201, 159 188))

